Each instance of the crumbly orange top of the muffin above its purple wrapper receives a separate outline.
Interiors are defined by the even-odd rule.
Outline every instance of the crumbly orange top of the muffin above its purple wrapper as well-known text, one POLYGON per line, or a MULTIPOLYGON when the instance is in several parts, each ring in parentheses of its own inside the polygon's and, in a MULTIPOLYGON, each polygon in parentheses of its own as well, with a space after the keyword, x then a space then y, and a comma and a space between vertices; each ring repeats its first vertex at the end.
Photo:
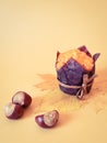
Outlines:
POLYGON ((92 70, 94 66, 93 57, 88 56, 85 52, 74 48, 64 53, 59 53, 56 65, 57 69, 60 69, 67 62, 70 61, 70 58, 76 61, 81 66, 83 66, 84 69, 88 72, 92 70))

